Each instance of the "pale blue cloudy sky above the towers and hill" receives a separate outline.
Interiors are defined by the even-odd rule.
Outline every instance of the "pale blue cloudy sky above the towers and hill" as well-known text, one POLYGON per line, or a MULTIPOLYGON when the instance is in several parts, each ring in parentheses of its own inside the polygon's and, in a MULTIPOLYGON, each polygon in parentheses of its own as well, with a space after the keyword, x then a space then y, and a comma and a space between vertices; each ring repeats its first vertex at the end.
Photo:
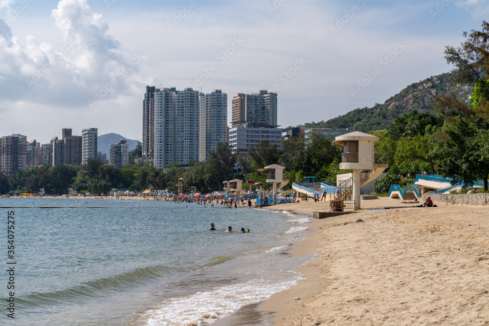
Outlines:
POLYGON ((0 0, 0 136, 142 139, 146 86, 267 89, 283 128, 451 70, 489 0, 0 0))

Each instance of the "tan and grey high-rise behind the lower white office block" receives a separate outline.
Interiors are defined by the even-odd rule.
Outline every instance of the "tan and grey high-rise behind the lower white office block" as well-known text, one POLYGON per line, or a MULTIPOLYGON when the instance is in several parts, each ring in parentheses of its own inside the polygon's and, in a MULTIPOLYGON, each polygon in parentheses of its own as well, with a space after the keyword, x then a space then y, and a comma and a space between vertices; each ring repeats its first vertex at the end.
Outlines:
POLYGON ((232 128, 248 123, 277 127, 277 94, 260 90, 258 94, 238 93, 231 101, 232 128))

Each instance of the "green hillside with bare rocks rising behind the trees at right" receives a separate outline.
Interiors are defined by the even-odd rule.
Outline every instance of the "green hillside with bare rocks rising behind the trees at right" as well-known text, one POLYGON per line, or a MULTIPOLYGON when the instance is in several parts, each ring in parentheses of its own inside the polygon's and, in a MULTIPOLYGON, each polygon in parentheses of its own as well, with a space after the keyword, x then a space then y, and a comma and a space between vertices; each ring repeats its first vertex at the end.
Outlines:
POLYGON ((344 115, 328 121, 311 122, 298 127, 353 129, 363 132, 389 129, 398 116, 416 109, 418 112, 433 112, 433 95, 455 93, 461 99, 467 99, 472 92, 471 87, 451 84, 449 73, 431 76, 413 83, 386 100, 384 104, 376 104, 372 108, 354 109, 344 115))

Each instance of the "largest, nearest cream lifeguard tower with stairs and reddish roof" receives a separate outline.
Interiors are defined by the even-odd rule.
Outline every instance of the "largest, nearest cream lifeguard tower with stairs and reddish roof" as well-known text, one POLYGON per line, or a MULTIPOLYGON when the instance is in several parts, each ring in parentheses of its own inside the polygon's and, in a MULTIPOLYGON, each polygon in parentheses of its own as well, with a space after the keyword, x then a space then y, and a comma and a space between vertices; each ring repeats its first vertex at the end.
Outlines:
POLYGON ((378 137, 368 133, 354 131, 341 136, 337 136, 332 142, 333 145, 343 146, 341 153, 340 170, 353 170, 352 177, 343 180, 337 186, 339 188, 335 203, 332 203, 334 210, 339 207, 341 202, 352 196, 355 201, 355 210, 360 209, 360 187, 376 179, 385 169, 389 167, 387 153, 375 153, 374 143, 378 137))

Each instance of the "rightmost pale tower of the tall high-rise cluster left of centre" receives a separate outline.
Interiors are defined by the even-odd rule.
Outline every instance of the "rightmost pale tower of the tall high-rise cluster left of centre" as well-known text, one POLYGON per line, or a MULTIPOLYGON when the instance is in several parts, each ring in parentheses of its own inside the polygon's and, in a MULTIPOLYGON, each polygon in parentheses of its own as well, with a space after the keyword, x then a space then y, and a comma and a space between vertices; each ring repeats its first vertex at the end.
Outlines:
POLYGON ((218 143, 227 141, 227 94, 216 89, 210 94, 200 93, 199 161, 209 159, 218 143))

